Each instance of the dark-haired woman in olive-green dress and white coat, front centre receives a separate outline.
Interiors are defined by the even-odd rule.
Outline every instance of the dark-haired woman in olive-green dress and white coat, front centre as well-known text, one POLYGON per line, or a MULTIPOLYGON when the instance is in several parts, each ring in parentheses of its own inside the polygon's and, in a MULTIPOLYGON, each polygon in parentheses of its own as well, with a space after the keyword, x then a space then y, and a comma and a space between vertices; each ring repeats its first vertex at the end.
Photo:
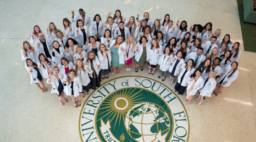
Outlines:
POLYGON ((140 65, 140 70, 143 70, 142 65, 146 61, 146 52, 150 49, 150 43, 148 43, 148 39, 143 35, 139 42, 136 45, 135 49, 135 62, 136 62, 136 68, 135 72, 138 72, 138 67, 140 65))

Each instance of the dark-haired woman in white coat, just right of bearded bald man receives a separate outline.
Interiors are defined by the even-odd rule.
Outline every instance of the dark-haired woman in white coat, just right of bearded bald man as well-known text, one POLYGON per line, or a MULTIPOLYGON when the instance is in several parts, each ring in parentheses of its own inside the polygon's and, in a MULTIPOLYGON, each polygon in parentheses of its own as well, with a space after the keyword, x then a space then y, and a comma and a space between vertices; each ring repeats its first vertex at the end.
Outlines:
POLYGON ((52 60, 56 63, 56 62, 60 62, 60 59, 62 57, 67 58, 67 53, 66 50, 61 47, 59 45, 59 42, 57 42, 56 40, 53 41, 53 49, 52 51, 52 60))

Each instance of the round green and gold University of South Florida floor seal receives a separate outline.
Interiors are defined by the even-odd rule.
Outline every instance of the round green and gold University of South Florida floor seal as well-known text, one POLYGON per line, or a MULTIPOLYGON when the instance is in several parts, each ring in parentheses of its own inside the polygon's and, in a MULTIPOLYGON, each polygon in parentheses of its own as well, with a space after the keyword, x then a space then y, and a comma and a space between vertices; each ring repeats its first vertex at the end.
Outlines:
POLYGON ((185 107, 167 86, 124 76, 90 94, 79 132, 82 142, 187 142, 190 128, 185 107))

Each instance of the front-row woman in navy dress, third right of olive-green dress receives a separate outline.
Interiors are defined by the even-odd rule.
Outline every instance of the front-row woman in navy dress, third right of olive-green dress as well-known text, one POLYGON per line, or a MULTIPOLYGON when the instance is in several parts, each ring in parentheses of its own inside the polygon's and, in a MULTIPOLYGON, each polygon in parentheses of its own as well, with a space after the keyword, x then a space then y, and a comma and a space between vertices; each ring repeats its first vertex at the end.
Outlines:
POLYGON ((169 84, 174 83, 174 78, 175 76, 178 75, 178 70, 184 63, 185 61, 183 59, 183 52, 181 50, 178 50, 174 58, 171 59, 171 66, 169 68, 169 72, 170 72, 169 84))

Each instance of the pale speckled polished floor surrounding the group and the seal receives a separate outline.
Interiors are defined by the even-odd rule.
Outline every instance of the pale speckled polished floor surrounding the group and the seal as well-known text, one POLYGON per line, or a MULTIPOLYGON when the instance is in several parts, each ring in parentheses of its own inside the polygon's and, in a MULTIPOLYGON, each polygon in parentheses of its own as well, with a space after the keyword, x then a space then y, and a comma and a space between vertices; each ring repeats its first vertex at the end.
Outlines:
MULTIPOLYGON (((50 94, 49 84, 46 85, 47 93, 30 84, 30 74, 21 60, 20 50, 23 41, 30 41, 34 25, 41 27, 44 33, 49 22, 62 29, 63 18, 71 21, 71 10, 74 9, 76 15, 82 8, 91 20, 97 13, 105 21, 108 11, 114 13, 117 9, 127 19, 148 11, 153 21, 169 13, 172 21, 186 20, 188 25, 212 22, 213 31, 222 30, 221 38, 230 34, 233 43, 241 43, 239 76, 220 95, 212 95, 202 105, 197 105, 196 99, 189 105, 185 104, 190 120, 189 141, 255 142, 256 87, 253 83, 256 81, 256 53, 244 51, 236 0, 10 0, 0 3, 0 44, 4 50, 0 52, 0 141, 81 141, 78 128, 81 108, 75 109, 70 97, 66 97, 69 102, 61 106, 57 95, 50 94)), ((129 72, 123 66, 119 75, 111 74, 110 78, 127 75, 149 77, 148 65, 143 67, 143 71, 135 73, 134 64, 129 72)), ((161 81, 159 73, 158 70, 151 78, 161 81)), ((168 81, 166 79, 164 84, 174 89, 168 81)), ((178 97, 183 100, 186 96, 178 97)), ((82 104, 85 99, 81 98, 82 104)))

